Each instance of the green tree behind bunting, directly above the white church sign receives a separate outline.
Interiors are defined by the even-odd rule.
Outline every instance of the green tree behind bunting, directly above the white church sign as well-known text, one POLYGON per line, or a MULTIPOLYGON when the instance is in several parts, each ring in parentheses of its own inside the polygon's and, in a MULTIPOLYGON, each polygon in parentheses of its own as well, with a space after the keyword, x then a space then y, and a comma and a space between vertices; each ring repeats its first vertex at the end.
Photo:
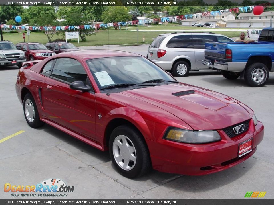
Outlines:
MULTIPOLYGON (((84 25, 90 25, 90 19, 84 15, 84 8, 77 7, 60 7, 58 15, 65 19, 63 26, 81 26, 80 28, 71 28, 67 31, 78 31, 81 41, 85 41, 87 36, 95 35, 94 28, 85 28, 84 25)), ((62 31, 65 36, 65 31, 62 31)))

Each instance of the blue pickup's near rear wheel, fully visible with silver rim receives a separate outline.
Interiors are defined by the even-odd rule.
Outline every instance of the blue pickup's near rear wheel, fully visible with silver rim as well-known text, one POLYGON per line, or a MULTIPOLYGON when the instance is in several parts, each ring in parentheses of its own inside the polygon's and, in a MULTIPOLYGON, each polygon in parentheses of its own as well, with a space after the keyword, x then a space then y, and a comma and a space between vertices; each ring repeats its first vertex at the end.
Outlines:
POLYGON ((251 87, 261 87, 263 86, 266 81, 268 80, 269 77, 269 71, 268 68, 265 64, 263 63, 253 63, 251 65, 249 65, 246 69, 245 69, 245 82, 250 85, 251 87), (263 79, 258 79, 255 80, 253 79, 253 77, 255 78, 256 74, 255 72, 260 71, 258 73, 259 77, 263 78, 263 79))

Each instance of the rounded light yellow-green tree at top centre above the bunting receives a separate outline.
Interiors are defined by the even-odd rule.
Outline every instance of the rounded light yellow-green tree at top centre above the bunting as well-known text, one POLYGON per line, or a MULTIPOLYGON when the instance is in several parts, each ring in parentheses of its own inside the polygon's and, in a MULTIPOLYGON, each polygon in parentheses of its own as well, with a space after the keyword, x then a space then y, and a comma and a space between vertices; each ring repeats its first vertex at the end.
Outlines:
POLYGON ((109 10, 103 12, 104 23, 130 21, 132 16, 128 14, 126 7, 110 7, 109 10))

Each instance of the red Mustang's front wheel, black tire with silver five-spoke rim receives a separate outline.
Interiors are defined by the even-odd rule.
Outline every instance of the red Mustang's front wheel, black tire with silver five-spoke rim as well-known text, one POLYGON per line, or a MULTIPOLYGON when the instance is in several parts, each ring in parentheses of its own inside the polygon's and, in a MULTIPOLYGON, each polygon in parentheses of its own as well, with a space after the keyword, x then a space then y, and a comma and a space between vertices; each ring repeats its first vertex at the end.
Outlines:
POLYGON ((140 177, 150 171, 151 161, 148 147, 142 134, 135 127, 121 125, 115 128, 110 135, 108 146, 112 163, 114 164, 118 172, 124 177, 140 177), (119 147, 117 143, 119 143, 121 147, 119 147), (129 147, 131 149, 129 149, 129 147), (132 152, 132 150, 135 151, 132 152), (130 154, 130 152, 132 152, 133 154, 130 154), (122 156, 122 153, 124 154, 124 156, 122 156), (131 157, 135 158, 133 159, 135 160, 135 162, 130 160, 131 157), (120 160, 120 164, 116 162, 116 159, 118 161, 120 160), (124 159, 128 160, 128 163, 124 159), (126 164, 128 165, 128 167, 125 168, 128 168, 128 170, 122 168, 123 165, 126 164))

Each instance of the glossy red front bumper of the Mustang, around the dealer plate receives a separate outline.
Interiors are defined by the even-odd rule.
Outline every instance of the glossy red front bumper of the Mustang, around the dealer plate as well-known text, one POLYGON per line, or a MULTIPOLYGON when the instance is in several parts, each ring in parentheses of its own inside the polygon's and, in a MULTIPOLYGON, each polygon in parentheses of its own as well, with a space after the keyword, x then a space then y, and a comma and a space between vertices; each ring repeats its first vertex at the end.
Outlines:
POLYGON ((153 168, 183 175, 205 175, 228 169, 255 153, 257 145, 263 140, 264 126, 261 122, 254 126, 253 120, 250 120, 249 130, 233 138, 222 130, 218 132, 221 141, 207 144, 147 140, 153 168), (253 138, 252 151, 238 158, 239 144, 250 138, 253 138))

